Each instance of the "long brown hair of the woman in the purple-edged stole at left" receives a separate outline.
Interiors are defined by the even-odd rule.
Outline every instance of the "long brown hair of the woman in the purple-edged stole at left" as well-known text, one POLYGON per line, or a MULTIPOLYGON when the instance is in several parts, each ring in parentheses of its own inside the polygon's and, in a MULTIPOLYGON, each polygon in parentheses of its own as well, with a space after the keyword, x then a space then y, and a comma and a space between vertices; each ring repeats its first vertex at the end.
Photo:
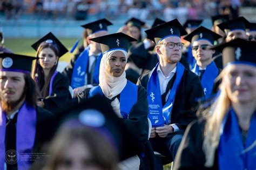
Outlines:
MULTIPOLYGON (((56 57, 59 56, 59 50, 55 44, 43 42, 37 48, 36 57, 39 57, 39 53, 45 48, 50 48, 53 52, 55 52, 56 57)), ((45 80, 44 80, 44 76, 45 76, 44 71, 43 71, 42 66, 38 63, 38 58, 36 59, 36 63, 33 65, 32 78, 37 82, 40 92, 41 92, 41 96, 43 98, 50 95, 49 94, 50 81, 51 81, 51 77, 52 77, 53 73, 57 69, 58 62, 59 62, 59 59, 57 60, 56 65, 54 65, 51 68, 50 73, 49 73, 48 77, 46 77, 45 80)))

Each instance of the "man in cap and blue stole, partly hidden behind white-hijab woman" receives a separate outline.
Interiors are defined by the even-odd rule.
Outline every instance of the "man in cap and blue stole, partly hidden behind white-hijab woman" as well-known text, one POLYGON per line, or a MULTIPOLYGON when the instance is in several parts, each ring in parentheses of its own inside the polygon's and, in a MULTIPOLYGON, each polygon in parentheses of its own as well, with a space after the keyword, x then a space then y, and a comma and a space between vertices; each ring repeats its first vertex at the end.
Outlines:
POLYGON ((100 45, 92 42, 91 38, 107 35, 107 26, 112 25, 107 19, 82 25, 87 31, 87 43, 84 51, 71 60, 63 74, 69 77, 70 85, 74 90, 74 97, 87 87, 99 84, 99 64, 102 59, 100 45))

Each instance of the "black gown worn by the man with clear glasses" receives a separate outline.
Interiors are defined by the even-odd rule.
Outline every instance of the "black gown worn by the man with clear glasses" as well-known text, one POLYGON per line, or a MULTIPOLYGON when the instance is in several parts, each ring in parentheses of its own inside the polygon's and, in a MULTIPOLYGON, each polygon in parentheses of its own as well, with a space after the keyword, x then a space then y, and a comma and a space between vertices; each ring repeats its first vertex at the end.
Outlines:
MULTIPOLYGON (((137 84, 144 86, 146 89, 150 74, 151 72, 141 76, 137 84)), ((176 73, 169 81, 169 83, 171 83, 171 87, 174 83, 174 78, 176 78, 176 73)), ((185 131, 187 125, 197 118, 196 111, 198 108, 198 103, 196 99, 203 96, 204 91, 198 76, 185 69, 183 77, 180 81, 179 89, 175 96, 175 101, 172 108, 171 123, 176 124, 180 130, 185 131)))

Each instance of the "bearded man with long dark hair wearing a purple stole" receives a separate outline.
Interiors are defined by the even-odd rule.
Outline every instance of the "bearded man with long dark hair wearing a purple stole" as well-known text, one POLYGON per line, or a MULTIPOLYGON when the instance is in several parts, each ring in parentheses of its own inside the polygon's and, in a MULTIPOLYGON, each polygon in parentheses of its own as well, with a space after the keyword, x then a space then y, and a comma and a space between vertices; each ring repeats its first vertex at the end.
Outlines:
POLYGON ((0 54, 0 169, 29 169, 54 132, 54 117, 36 105, 38 92, 30 76, 35 57, 0 54), (46 124, 47 123, 47 124, 46 124))

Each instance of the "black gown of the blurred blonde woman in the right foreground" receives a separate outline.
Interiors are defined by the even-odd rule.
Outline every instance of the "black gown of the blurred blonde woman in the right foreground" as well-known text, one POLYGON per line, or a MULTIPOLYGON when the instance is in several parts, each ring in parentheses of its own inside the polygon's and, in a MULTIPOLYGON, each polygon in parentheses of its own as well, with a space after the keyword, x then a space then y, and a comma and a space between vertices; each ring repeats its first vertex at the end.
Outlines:
POLYGON ((211 170, 218 169, 218 154, 215 151, 213 167, 205 167, 205 153, 203 152, 205 119, 194 120, 187 126, 183 140, 179 146, 173 170, 194 169, 211 170))

